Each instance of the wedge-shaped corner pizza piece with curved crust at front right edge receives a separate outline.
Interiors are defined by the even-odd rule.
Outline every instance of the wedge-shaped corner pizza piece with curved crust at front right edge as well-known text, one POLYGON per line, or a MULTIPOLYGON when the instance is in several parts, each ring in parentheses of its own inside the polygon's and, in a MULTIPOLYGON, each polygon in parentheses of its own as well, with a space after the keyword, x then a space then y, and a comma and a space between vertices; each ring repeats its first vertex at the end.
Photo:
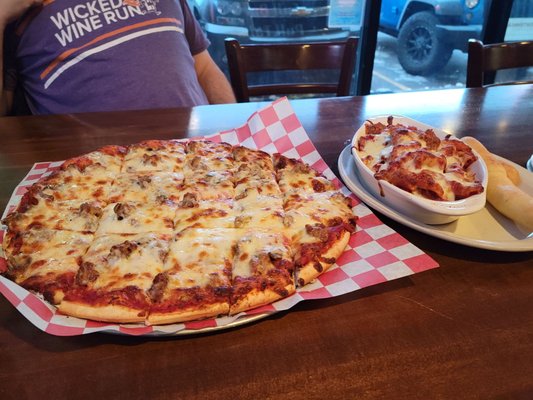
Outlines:
POLYGON ((304 286, 329 269, 356 229, 350 199, 340 192, 292 193, 284 200, 285 226, 294 243, 296 282, 304 286))

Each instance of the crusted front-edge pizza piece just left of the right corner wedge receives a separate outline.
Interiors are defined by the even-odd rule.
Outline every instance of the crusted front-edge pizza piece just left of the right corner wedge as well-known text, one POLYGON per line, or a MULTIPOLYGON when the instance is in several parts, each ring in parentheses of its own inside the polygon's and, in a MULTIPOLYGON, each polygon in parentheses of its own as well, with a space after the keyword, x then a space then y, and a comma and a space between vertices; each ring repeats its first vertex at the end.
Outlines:
POLYGON ((281 232, 250 229, 238 240, 232 269, 230 314, 295 292, 290 241, 281 232))

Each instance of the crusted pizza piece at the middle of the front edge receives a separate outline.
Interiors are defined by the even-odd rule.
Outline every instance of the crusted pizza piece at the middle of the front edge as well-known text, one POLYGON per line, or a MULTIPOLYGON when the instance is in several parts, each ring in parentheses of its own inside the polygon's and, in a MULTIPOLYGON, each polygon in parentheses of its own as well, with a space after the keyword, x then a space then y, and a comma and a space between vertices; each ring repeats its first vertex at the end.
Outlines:
POLYGON ((167 324, 227 314, 231 267, 240 230, 188 228, 170 244, 163 271, 148 293, 148 323, 167 324))

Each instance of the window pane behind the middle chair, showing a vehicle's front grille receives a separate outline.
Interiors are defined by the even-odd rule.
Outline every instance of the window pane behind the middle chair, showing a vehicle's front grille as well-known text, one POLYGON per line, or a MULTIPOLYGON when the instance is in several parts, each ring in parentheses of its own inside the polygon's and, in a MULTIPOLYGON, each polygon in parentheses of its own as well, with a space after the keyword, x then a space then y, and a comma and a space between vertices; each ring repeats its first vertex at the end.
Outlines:
MULTIPOLYGON (((228 74, 224 40, 240 43, 320 42, 359 36, 364 0, 188 0, 211 41, 209 52, 228 74)), ((250 84, 286 80, 336 82, 335 71, 250 74, 250 84)))

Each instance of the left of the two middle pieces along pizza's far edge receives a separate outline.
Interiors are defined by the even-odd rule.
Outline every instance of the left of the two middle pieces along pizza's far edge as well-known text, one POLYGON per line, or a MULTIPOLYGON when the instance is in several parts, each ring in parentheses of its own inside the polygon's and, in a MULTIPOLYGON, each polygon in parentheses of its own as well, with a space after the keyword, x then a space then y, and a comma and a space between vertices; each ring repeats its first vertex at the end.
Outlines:
POLYGON ((173 140, 146 140, 128 147, 122 172, 179 172, 185 163, 185 144, 173 140))

